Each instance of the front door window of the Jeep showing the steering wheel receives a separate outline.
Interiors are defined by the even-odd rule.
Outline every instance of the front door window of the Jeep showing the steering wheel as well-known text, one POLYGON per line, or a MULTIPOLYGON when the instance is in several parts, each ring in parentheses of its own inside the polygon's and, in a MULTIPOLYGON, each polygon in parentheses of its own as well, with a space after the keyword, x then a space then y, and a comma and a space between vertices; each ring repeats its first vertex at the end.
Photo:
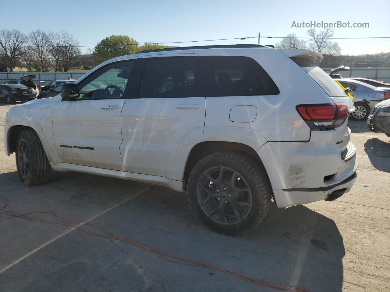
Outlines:
POLYGON ((80 97, 77 99, 120 99, 130 78, 135 60, 112 63, 78 84, 80 97))

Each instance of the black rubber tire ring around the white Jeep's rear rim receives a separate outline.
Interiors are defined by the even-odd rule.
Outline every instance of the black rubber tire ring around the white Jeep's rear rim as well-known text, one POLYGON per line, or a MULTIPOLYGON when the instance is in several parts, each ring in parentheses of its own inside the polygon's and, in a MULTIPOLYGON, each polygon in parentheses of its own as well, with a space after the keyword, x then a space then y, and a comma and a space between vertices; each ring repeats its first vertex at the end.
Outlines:
POLYGON ((193 169, 190 174, 190 179, 188 181, 188 199, 190 200, 191 206, 193 206, 193 211, 195 215, 205 222, 211 229, 214 229, 223 234, 237 234, 241 233, 242 230, 248 229, 253 223, 257 220, 260 213, 260 200, 259 195, 262 191, 259 185, 255 182, 254 175, 248 171, 248 169, 236 159, 227 159, 225 157, 214 156, 213 158, 206 157, 203 158, 193 169), (209 216, 207 216, 202 208, 200 208, 198 197, 197 197, 197 185, 202 174, 208 169, 216 166, 224 166, 234 171, 238 172, 239 175, 245 179, 245 182, 250 188, 252 194, 252 206, 246 218, 237 224, 234 225, 223 225, 213 221, 209 216))

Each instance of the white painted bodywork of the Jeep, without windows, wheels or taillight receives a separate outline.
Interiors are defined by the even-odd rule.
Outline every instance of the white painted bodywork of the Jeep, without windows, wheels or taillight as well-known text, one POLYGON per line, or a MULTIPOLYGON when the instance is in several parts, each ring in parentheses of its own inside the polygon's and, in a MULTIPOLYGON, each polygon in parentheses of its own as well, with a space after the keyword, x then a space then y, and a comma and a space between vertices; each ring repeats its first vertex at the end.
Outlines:
POLYGON ((108 60, 161 56, 247 56, 257 61, 280 90, 272 96, 196 97, 164 99, 81 100, 63 102, 59 96, 27 102, 10 109, 5 121, 5 151, 12 127, 33 128, 51 165, 58 171, 80 171, 130 179, 182 190, 183 174, 194 146, 207 141, 249 146, 264 164, 279 207, 323 200, 354 174, 356 155, 340 158, 349 142, 347 121, 334 130, 314 131, 302 120, 298 104, 347 102, 330 98, 296 65, 291 56, 319 62, 307 50, 272 48, 214 48, 144 53, 108 60), (101 106, 113 104, 115 110, 101 106), (62 148, 89 146, 94 150, 62 148), (335 174, 332 181, 324 176, 335 174), (333 187, 334 185, 334 187, 333 187), (329 187, 326 191, 294 191, 329 187))

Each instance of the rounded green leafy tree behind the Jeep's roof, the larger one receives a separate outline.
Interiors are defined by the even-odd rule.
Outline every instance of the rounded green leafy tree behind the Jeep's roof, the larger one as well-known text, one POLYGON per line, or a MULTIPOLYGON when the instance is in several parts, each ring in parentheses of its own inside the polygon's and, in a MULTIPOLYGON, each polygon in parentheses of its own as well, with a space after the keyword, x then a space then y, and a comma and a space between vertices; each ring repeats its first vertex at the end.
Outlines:
POLYGON ((135 54, 138 51, 138 42, 127 35, 111 35, 101 40, 94 49, 94 65, 123 55, 135 54))

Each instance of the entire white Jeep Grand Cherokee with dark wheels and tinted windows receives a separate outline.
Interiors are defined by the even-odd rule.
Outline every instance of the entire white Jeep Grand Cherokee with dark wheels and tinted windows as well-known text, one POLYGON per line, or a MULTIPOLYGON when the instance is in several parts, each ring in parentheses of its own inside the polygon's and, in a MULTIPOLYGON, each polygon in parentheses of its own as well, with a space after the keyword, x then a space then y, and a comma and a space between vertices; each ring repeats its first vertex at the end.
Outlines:
POLYGON ((25 185, 51 168, 164 185, 212 229, 245 233, 271 201, 333 201, 356 179, 353 102, 321 58, 257 45, 117 57, 12 107, 5 151, 25 185))

